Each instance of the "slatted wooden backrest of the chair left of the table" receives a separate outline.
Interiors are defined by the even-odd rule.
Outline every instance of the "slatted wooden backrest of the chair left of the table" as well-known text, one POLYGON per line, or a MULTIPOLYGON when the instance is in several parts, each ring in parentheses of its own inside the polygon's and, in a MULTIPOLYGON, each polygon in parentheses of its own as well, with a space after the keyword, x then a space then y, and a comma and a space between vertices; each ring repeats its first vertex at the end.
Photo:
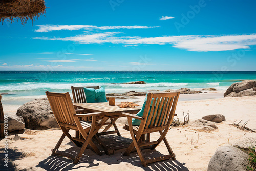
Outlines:
POLYGON ((69 93, 46 92, 53 114, 57 122, 75 125, 74 115, 76 114, 69 93))

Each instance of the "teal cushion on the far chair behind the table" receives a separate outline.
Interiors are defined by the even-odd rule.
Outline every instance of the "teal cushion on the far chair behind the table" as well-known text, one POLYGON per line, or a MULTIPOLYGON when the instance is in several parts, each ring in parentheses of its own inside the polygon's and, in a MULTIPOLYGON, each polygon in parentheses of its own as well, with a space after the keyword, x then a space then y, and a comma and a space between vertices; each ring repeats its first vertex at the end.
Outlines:
POLYGON ((93 88, 83 88, 84 93, 86 94, 86 102, 87 103, 102 103, 108 102, 106 100, 106 92, 105 88, 101 87, 99 89, 93 88))

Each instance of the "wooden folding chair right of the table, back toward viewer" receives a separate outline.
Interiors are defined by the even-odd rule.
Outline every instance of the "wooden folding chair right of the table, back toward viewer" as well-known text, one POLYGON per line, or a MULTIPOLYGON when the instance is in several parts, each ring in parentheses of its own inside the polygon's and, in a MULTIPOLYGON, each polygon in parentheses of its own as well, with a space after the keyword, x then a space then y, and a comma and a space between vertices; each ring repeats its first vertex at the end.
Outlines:
POLYGON ((167 160, 170 158, 175 160, 175 154, 173 153, 172 148, 170 148, 165 136, 173 121, 178 98, 179 93, 148 93, 142 117, 129 113, 122 113, 128 118, 128 125, 125 125, 124 129, 130 131, 133 139, 133 142, 124 152, 124 156, 128 156, 135 147, 144 167, 149 163, 167 160), (141 120, 140 125, 133 126, 132 118, 141 120), (141 141, 141 138, 145 137, 145 134, 153 132, 160 133, 160 137, 157 141, 141 141), (140 148, 148 146, 151 149, 155 149, 162 140, 168 149, 169 155, 145 160, 140 148))

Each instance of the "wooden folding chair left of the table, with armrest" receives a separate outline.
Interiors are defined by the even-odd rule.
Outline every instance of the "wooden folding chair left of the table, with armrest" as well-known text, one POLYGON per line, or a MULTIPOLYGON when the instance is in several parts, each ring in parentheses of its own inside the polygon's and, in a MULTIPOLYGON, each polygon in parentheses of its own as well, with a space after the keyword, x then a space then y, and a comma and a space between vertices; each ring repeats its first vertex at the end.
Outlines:
POLYGON ((51 155, 61 155, 71 158, 74 160, 73 163, 75 164, 80 160, 88 144, 90 144, 90 146, 98 155, 101 155, 101 152, 97 146, 92 142, 92 137, 98 132, 100 127, 108 118, 103 118, 100 123, 97 123, 96 116, 100 115, 100 112, 76 114, 69 93, 52 93, 46 91, 46 95, 51 105, 53 114, 59 124, 59 127, 63 131, 63 134, 57 142, 55 148, 52 149, 51 155), (92 117, 92 121, 80 121, 79 117, 92 117), (69 130, 79 131, 83 139, 72 137, 69 134, 69 130), (76 157, 68 153, 58 151, 58 148, 60 147, 60 144, 62 143, 65 136, 67 136, 75 145, 81 147, 80 152, 76 157))

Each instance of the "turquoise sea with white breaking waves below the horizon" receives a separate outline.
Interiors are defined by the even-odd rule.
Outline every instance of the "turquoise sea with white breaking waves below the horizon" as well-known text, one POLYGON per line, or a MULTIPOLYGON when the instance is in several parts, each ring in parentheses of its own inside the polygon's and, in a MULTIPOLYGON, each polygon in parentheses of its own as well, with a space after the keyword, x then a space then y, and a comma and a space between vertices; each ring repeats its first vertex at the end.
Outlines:
POLYGON ((106 93, 213 87, 225 91, 232 83, 256 80, 256 71, 0 71, 3 104, 21 105, 42 98, 45 91, 70 92, 71 86, 105 87, 106 93), (144 81, 146 84, 122 84, 144 81))

